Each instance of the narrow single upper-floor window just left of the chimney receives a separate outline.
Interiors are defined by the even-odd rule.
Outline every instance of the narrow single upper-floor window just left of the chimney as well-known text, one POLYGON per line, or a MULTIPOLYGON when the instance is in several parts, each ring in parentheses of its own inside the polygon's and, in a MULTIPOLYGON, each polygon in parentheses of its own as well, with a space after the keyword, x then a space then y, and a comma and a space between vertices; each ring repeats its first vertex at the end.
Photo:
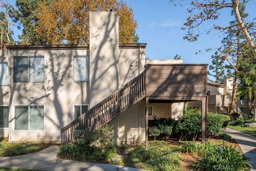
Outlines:
POLYGON ((87 56, 74 56, 73 76, 75 82, 89 81, 89 62, 87 56))

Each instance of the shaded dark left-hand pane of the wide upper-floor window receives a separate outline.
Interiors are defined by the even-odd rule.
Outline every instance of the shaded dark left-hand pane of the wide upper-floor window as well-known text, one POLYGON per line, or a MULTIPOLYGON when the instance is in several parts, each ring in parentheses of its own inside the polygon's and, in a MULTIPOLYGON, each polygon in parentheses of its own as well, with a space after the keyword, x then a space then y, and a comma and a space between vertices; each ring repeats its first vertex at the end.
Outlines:
POLYGON ((28 82, 28 57, 14 57, 14 82, 28 82))

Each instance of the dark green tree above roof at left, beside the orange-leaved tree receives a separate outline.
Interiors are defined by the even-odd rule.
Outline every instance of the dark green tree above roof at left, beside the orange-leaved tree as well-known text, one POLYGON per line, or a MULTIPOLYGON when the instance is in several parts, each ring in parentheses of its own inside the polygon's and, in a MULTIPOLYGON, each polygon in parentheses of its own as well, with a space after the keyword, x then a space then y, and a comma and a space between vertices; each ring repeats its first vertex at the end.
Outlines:
POLYGON ((44 44, 43 40, 35 32, 37 26, 36 11, 41 1, 38 0, 16 0, 18 15, 15 18, 19 22, 19 28, 22 26, 22 34, 19 35, 19 44, 23 45, 40 45, 44 44))

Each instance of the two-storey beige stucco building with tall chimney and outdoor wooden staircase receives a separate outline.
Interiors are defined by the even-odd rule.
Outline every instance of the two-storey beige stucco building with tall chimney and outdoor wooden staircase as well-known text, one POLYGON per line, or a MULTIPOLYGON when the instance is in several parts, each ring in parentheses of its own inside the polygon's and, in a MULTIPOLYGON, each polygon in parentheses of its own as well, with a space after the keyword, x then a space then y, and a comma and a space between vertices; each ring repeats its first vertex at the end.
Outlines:
POLYGON ((0 134, 10 142, 70 141, 109 123, 117 144, 147 142, 151 116, 177 118, 183 102, 205 103, 207 65, 146 61, 145 48, 118 43, 116 12, 90 12, 90 45, 7 47, 0 134))

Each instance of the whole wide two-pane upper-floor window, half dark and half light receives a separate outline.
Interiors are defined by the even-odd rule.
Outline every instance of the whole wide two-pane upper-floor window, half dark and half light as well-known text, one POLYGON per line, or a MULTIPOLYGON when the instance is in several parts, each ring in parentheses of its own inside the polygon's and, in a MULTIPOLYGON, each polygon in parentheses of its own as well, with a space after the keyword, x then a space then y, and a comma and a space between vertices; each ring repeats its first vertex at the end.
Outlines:
POLYGON ((44 82, 44 57, 14 57, 14 82, 44 82))

